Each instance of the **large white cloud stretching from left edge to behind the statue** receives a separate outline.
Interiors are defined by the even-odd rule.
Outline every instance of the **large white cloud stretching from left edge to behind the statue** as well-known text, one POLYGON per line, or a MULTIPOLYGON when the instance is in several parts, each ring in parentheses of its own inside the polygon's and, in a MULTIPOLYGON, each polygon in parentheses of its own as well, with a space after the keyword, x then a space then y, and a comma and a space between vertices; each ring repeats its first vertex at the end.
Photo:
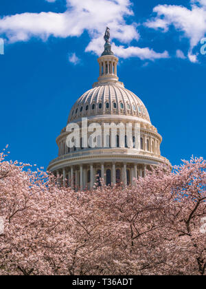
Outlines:
MULTIPOLYGON (((47 0, 48 1, 48 0, 47 0)), ((49 0, 49 2, 54 2, 49 0)), ((105 27, 111 28, 111 36, 127 45, 115 46, 117 54, 123 58, 137 56, 141 59, 166 57, 167 53, 157 53, 148 47, 130 47, 130 42, 139 40, 137 23, 126 23, 133 16, 130 0, 67 0, 64 13, 41 12, 23 13, 0 19, 0 34, 5 34, 10 43, 29 41, 38 37, 46 41, 49 36, 66 38, 89 33, 91 42, 86 51, 100 55, 103 50, 105 27), (101 45, 100 45, 101 43, 101 45)))

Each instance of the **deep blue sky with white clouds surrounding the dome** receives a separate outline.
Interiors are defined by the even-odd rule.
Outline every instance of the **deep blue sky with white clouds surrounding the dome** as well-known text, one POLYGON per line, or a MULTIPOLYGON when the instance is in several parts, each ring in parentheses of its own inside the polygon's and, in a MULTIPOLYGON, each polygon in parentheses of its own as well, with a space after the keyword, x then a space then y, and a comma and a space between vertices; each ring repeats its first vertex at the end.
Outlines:
POLYGON ((75 101, 97 81, 111 28, 118 75, 148 108, 172 164, 205 156, 206 0, 0 0, 1 136, 47 167, 75 101))

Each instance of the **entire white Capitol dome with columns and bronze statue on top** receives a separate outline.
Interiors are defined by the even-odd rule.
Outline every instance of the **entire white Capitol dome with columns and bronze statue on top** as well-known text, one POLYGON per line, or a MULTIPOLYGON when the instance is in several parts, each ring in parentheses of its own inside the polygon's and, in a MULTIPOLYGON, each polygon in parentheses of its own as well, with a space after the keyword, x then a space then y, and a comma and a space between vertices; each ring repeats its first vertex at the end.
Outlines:
MULTIPOLYGON (((85 92, 73 105, 67 125, 74 122, 82 124, 82 118, 87 118, 88 126, 98 123, 105 124, 120 122, 138 124, 140 127, 139 147, 119 145, 111 146, 111 131, 109 131, 107 145, 99 147, 69 148, 66 139, 69 134, 66 127, 62 129, 56 139, 58 158, 49 163, 48 171, 54 173, 63 186, 72 189, 93 189, 104 178, 106 184, 133 184, 134 178, 144 177, 146 170, 152 166, 170 162, 161 156, 160 145, 162 138, 152 125, 148 110, 139 97, 124 87, 117 77, 117 63, 119 59, 111 51, 109 43, 109 28, 106 28, 104 52, 98 58, 100 76, 93 88, 85 92)), ((135 133, 133 131, 133 133, 135 133)), ((126 136, 125 136, 126 138, 126 136)), ((133 136, 133 139, 135 136, 133 136)), ((135 142, 135 140, 134 140, 135 142)))

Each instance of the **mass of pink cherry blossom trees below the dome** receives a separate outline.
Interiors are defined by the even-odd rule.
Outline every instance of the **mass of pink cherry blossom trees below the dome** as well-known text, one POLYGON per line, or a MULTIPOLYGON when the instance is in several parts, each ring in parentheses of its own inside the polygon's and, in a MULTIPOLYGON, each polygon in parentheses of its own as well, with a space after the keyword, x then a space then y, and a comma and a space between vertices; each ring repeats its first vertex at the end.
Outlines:
POLYGON ((76 192, 0 154, 0 275, 206 275, 206 162, 76 192))

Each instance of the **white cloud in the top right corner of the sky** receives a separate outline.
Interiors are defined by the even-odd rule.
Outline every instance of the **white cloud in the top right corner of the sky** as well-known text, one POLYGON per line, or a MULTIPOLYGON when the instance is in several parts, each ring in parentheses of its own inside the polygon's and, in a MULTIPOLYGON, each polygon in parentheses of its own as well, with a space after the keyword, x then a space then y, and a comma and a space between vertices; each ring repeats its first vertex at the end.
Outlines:
POLYGON ((192 0, 190 9, 176 5, 159 5, 153 12, 157 16, 148 20, 145 25, 156 30, 160 28, 163 32, 168 32, 170 25, 174 25, 177 31, 183 32, 190 40, 190 61, 197 61, 192 51, 206 34, 206 0, 192 0))

